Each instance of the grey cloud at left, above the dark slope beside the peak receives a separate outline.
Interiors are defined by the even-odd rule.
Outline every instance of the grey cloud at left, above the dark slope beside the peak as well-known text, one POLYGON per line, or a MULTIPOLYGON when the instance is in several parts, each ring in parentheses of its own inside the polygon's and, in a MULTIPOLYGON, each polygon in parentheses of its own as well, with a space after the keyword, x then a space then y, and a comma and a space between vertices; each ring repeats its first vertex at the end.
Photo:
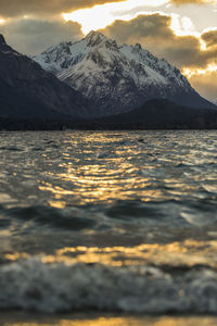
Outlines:
POLYGON ((82 37, 77 23, 46 20, 12 20, 0 25, 0 33, 14 49, 26 54, 36 54, 49 46, 64 40, 76 41, 82 37))

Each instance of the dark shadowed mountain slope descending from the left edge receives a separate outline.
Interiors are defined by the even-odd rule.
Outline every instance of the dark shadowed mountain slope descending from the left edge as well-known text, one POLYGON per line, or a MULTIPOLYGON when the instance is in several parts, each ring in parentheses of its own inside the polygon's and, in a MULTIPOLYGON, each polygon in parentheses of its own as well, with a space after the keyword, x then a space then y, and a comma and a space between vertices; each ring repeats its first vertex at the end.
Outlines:
POLYGON ((78 91, 7 45, 0 35, 0 116, 51 118, 88 116, 78 91))

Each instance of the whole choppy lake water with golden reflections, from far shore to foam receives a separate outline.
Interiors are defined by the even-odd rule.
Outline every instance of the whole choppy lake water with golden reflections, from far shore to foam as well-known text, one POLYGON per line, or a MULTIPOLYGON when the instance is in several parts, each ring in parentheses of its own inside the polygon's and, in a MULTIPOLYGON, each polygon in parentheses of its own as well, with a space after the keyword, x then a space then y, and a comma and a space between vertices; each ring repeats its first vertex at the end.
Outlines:
POLYGON ((1 311, 217 314, 217 131, 0 139, 1 311))

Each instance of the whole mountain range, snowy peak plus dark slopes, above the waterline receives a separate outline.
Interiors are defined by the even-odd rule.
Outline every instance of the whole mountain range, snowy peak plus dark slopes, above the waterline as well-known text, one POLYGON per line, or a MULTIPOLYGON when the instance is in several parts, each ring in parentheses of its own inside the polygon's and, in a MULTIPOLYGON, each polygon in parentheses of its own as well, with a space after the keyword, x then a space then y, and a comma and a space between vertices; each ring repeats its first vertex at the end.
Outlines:
POLYGON ((0 129, 217 128, 216 106, 139 45, 90 33, 34 59, 0 35, 0 129))

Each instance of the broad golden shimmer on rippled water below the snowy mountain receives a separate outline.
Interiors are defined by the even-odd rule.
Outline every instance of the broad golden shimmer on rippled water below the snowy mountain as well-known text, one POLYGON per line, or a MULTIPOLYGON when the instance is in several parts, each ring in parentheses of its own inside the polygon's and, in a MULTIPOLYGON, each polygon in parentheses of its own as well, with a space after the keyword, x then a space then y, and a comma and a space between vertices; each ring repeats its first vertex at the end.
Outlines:
MULTIPOLYGON (((173 147, 165 149, 161 139, 155 139, 152 147, 153 135, 146 145, 138 142, 138 137, 127 133, 117 137, 114 133, 82 133, 63 140, 59 158, 48 155, 44 161, 48 168, 39 190, 51 193, 51 206, 61 208, 63 202, 111 203, 138 198, 144 202, 164 201, 186 198, 200 189, 176 168, 188 160, 194 163, 197 152, 189 153, 188 149, 183 155, 177 149, 173 152, 173 147)), ((191 179, 196 175, 191 171, 191 179)))

